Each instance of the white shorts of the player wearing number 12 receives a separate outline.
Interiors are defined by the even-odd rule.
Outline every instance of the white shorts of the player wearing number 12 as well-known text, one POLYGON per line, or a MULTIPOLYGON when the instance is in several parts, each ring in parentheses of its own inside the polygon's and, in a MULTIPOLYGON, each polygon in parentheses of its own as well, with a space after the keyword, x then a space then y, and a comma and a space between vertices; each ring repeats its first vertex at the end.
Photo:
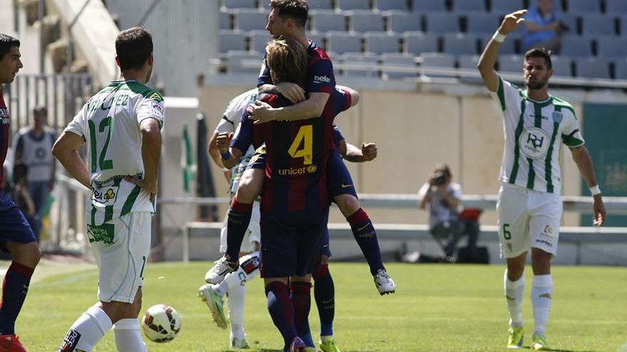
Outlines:
POLYGON ((144 284, 150 254, 151 213, 128 213, 99 226, 88 225, 98 264, 98 300, 133 303, 144 284))

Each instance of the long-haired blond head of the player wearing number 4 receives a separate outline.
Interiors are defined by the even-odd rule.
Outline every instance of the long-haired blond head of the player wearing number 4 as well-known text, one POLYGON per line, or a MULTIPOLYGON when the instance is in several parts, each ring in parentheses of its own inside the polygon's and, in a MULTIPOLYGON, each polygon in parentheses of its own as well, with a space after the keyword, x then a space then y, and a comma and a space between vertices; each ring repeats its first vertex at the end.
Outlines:
POLYGON ((266 46, 266 60, 275 84, 293 82, 304 86, 309 57, 299 41, 291 37, 274 39, 266 46))

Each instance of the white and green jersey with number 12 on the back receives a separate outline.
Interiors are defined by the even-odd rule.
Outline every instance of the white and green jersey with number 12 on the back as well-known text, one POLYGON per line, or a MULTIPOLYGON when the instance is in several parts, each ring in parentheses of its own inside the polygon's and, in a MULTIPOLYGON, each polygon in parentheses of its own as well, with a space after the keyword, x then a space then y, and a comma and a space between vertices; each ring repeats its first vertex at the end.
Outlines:
POLYGON ((90 225, 138 211, 155 211, 150 193, 123 179, 141 177, 143 119, 163 125, 160 92, 134 80, 115 80, 91 97, 68 124, 65 132, 82 136, 87 143, 87 169, 93 188, 90 225))

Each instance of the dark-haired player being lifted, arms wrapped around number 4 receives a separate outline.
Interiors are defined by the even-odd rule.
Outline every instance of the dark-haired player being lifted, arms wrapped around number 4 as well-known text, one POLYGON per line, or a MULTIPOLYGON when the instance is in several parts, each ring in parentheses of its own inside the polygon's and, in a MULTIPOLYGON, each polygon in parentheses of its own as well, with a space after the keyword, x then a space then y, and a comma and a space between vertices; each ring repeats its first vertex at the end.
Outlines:
MULTIPOLYGON (((333 65, 321 48, 314 41, 309 41, 305 33, 309 7, 304 0, 271 0, 271 12, 266 29, 274 38, 286 36, 294 38, 307 48, 309 65, 305 87, 299 87, 289 81, 274 85, 269 68, 264 63, 259 77, 259 92, 280 93, 294 105, 273 109, 268 105, 253 106, 257 119, 266 122, 271 119, 306 119, 321 116, 331 92, 335 87, 333 65), (305 96, 305 92, 307 97, 305 96), (306 100, 305 100, 306 99, 306 100)), ((258 161, 263 162, 263 158, 258 161)), ((351 224, 353 235, 368 262, 375 286, 380 294, 392 293, 396 285, 385 271, 381 260, 378 240, 373 224, 366 211, 361 208, 351 175, 343 164, 339 154, 332 154, 328 161, 328 188, 333 201, 338 205, 346 220, 351 224)), ((227 251, 216 265, 207 273, 207 282, 222 281, 224 274, 237 269, 239 245, 247 229, 252 203, 261 191, 263 174, 254 168, 244 172, 239 188, 229 210, 227 229, 227 251), (237 221, 235 220, 237 218, 237 221)))

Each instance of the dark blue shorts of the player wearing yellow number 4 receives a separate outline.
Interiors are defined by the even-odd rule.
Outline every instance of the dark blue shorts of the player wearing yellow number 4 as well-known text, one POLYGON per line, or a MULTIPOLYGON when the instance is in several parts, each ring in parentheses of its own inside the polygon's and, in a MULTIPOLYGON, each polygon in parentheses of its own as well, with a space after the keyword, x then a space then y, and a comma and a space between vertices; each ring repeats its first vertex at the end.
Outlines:
POLYGON ((261 213, 261 277, 312 274, 327 222, 328 208, 261 213))

